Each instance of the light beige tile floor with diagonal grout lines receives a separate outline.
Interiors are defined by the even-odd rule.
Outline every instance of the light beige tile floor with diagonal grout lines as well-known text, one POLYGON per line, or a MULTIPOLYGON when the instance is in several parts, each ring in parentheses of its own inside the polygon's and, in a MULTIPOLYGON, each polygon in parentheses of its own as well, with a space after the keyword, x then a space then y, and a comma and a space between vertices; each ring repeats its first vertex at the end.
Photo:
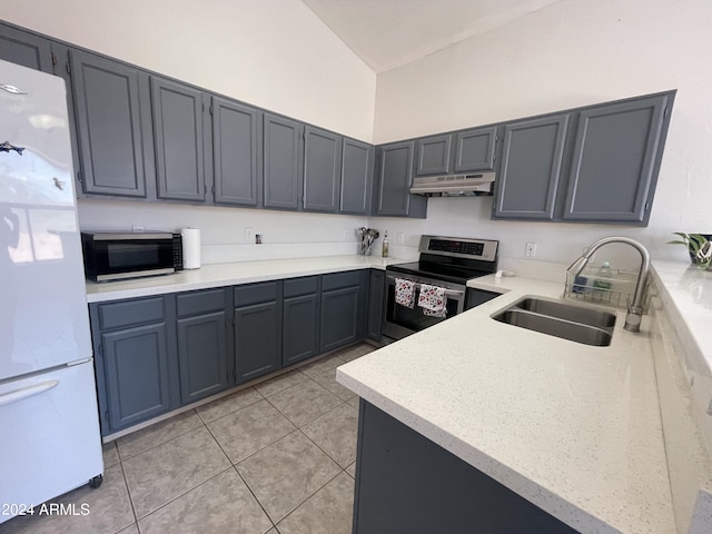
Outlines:
POLYGON ((16 517, 0 534, 348 534, 358 397, 335 369, 372 350, 343 349, 107 444, 103 484, 52 501, 77 515, 16 517))

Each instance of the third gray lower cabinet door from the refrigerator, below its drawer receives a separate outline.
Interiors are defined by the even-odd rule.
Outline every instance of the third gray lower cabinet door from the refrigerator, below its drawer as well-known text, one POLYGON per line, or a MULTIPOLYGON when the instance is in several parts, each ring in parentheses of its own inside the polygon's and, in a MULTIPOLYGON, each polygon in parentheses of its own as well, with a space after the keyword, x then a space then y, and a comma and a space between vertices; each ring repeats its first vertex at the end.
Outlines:
POLYGON ((279 368, 279 309, 277 301, 235 308, 235 368, 238 384, 279 368))

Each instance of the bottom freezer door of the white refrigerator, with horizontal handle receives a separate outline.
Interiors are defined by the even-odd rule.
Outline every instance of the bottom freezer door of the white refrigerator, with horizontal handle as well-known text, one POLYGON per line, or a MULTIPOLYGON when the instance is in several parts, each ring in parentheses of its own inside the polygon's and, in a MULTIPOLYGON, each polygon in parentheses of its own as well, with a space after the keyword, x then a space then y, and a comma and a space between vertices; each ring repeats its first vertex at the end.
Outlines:
MULTIPOLYGON (((91 359, 0 384, 0 503, 12 510, 103 473, 91 359)), ((9 518, 0 514, 0 523, 9 518)))

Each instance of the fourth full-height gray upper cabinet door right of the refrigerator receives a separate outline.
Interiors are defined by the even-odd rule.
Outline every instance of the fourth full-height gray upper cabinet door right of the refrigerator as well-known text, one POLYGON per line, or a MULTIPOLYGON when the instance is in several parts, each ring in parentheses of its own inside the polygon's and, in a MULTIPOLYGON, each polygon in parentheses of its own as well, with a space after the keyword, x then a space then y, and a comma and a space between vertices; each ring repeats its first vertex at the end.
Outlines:
POLYGON ((303 126, 294 120, 265 113, 263 172, 266 208, 299 208, 301 129, 303 126))

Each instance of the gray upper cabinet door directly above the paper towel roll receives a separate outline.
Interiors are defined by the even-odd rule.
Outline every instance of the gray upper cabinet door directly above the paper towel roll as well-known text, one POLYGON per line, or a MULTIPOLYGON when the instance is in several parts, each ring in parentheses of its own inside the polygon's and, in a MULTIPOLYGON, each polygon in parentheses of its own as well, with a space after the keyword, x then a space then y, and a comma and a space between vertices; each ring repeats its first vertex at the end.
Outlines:
POLYGON ((158 197, 205 201, 204 95, 151 77, 158 197))

